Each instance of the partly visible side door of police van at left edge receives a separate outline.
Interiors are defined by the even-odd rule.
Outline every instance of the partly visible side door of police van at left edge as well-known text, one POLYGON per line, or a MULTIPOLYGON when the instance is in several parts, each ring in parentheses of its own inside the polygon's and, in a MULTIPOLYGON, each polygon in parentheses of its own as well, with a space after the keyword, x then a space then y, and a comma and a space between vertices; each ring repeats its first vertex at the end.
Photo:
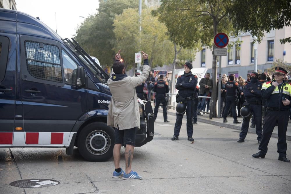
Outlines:
POLYGON ((13 144, 15 68, 16 34, 0 33, 0 147, 13 144))

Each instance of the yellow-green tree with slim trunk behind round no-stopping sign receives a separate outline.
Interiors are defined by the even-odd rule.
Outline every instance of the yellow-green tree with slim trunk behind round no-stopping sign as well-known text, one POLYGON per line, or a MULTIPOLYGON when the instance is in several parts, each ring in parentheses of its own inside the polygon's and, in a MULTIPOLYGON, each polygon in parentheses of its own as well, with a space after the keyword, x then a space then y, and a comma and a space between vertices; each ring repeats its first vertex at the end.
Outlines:
MULTIPOLYGON (((162 0, 161 6, 153 11, 167 29, 170 40, 184 48, 198 44, 214 50, 214 36, 218 32, 236 35, 226 8, 231 0, 162 0)), ((217 56, 212 51, 212 100, 210 119, 216 117, 217 56)))

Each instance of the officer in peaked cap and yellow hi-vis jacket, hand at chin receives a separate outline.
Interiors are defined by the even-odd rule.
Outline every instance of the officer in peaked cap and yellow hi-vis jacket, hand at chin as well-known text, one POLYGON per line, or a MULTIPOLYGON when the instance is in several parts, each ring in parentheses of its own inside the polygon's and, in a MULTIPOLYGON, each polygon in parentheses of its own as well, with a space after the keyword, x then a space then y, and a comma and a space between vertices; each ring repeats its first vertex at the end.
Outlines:
POLYGON ((262 86, 261 94, 263 98, 266 98, 267 113, 265 115, 265 124, 263 125, 262 140, 259 145, 260 152, 253 154, 254 158, 265 158, 269 140, 275 125, 278 123, 278 160, 290 162, 286 158, 286 131, 289 121, 291 85, 283 80, 285 74, 288 74, 286 70, 282 67, 276 67, 275 79, 265 82, 262 86))

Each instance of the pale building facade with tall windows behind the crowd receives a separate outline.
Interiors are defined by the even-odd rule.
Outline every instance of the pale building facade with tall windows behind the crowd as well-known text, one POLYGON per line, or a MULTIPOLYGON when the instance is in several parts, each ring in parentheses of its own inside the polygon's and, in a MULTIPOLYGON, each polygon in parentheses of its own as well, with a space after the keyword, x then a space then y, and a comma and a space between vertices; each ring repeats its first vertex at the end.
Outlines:
MULTIPOLYGON (((280 30, 272 30, 265 33, 262 42, 258 44, 257 69, 264 72, 270 68, 276 59, 282 59, 284 62, 291 63, 291 45, 290 43, 281 44, 282 38, 291 36, 291 27, 287 26, 280 30)), ((249 33, 244 33, 238 37, 230 37, 229 42, 236 40, 241 44, 234 47, 225 47, 228 49, 227 56, 221 57, 221 74, 235 74, 246 78, 246 74, 254 71, 254 38, 249 33)), ((217 57, 219 60, 219 57, 217 57)), ((219 61, 217 62, 219 64, 219 61)), ((212 73, 212 50, 203 48, 196 52, 196 58, 193 61, 193 68, 206 67, 207 72, 212 73)), ((217 66, 218 67, 218 66, 217 66)), ((217 70, 218 72, 218 70, 217 70)))

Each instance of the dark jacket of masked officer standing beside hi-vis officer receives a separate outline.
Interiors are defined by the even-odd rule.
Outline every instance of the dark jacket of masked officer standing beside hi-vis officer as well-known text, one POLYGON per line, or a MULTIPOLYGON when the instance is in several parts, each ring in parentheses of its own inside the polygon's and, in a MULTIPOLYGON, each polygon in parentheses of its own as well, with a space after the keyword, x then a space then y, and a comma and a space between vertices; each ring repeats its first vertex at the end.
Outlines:
POLYGON ((256 81, 255 83, 247 83, 244 86, 243 92, 246 97, 246 102, 261 104, 262 96, 261 96, 262 83, 256 81), (253 90, 253 93, 251 92, 253 90))

